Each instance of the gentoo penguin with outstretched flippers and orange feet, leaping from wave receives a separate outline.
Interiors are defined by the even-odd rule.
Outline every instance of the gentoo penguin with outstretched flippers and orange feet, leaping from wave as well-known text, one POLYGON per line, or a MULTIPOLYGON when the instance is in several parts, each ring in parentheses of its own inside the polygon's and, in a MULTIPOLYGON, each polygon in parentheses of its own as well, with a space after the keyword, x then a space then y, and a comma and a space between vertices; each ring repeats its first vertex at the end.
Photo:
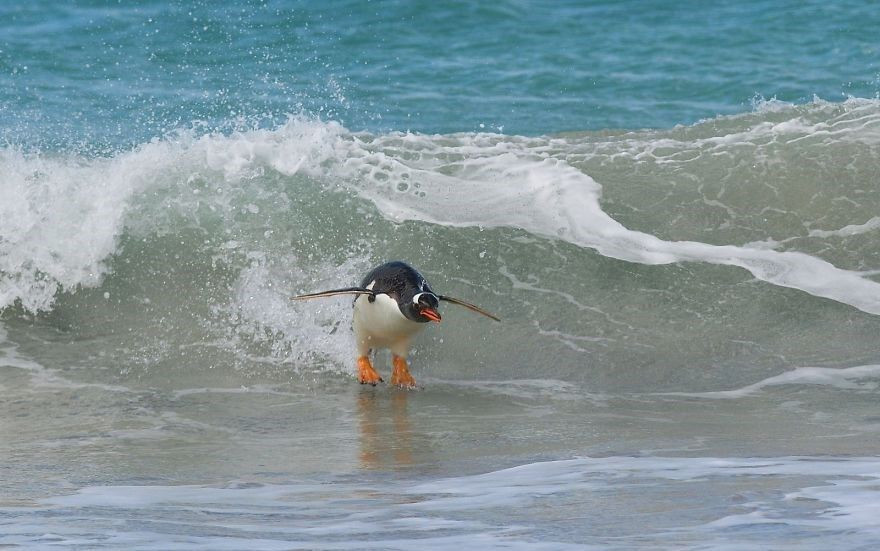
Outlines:
POLYGON ((373 369, 370 352, 376 348, 391 350, 394 371, 391 384, 415 388, 406 358, 413 336, 428 322, 440 321, 440 301, 451 302, 474 312, 501 321, 496 316, 457 298, 438 295, 431 290, 424 276, 405 262, 387 262, 373 268, 360 287, 346 287, 320 293, 292 297, 293 300, 357 295, 354 299, 354 335, 357 342, 358 380, 376 386, 382 377, 373 369))

